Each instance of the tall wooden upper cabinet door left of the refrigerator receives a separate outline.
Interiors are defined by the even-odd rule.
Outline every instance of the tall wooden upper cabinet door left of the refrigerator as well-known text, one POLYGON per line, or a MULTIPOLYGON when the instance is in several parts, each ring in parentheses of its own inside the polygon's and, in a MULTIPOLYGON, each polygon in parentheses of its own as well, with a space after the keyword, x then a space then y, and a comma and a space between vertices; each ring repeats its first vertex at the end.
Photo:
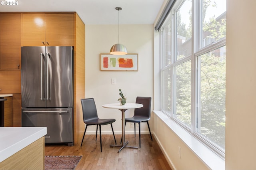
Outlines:
POLYGON ((0 69, 21 68, 20 24, 20 14, 0 14, 0 69))

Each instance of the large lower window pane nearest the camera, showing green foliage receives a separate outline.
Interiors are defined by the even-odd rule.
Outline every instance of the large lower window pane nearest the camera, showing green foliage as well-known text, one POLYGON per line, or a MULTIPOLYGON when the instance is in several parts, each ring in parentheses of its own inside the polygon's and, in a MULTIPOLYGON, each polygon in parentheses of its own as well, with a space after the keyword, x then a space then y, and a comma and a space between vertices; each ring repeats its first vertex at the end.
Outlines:
POLYGON ((225 148, 226 46, 198 56, 196 132, 225 148))

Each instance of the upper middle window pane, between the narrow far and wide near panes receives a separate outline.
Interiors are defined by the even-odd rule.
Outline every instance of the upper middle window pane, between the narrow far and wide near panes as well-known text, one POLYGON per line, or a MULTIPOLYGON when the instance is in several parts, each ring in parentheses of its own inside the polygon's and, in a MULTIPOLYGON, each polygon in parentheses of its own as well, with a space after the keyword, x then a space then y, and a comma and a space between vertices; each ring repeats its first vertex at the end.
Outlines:
POLYGON ((177 22, 177 56, 176 60, 191 55, 192 36, 192 1, 185 0, 180 9, 176 12, 177 22))

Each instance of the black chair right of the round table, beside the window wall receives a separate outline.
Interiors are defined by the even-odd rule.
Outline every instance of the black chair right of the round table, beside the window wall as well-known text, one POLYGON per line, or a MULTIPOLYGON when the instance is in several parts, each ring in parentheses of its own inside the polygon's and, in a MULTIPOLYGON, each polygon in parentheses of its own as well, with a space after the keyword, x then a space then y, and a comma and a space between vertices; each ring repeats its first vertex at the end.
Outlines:
MULTIPOLYGON (((129 118, 125 118, 125 124, 124 124, 124 127, 125 127, 127 122, 134 123, 134 137, 136 137, 135 123, 139 124, 139 136, 140 136, 140 123, 141 122, 146 122, 148 124, 148 121, 150 120, 151 97, 137 97, 136 98, 136 103, 142 104, 143 107, 134 109, 134 116, 129 117, 129 118)), ((148 130, 149 130, 149 133, 150 133, 151 140, 153 141, 149 124, 148 124, 148 130)), ((122 142, 122 138, 121 138, 121 142, 122 142)))

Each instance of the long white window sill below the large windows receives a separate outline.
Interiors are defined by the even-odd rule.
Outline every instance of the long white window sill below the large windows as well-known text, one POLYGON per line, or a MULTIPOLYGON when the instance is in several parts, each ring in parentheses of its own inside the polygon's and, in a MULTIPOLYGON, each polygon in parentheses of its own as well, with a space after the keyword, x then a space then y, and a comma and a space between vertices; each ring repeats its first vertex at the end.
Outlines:
POLYGON ((224 170, 225 160, 202 144, 189 132, 172 121, 161 111, 153 111, 186 145, 212 170, 224 170))

